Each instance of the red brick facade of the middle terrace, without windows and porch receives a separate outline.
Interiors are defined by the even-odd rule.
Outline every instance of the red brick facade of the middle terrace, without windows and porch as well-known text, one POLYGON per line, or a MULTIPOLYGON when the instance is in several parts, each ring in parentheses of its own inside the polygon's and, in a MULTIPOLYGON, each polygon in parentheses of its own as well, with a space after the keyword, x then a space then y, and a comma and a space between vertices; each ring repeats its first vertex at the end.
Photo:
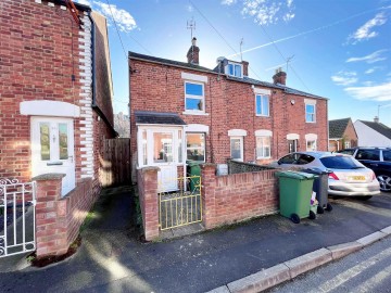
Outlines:
MULTIPOLYGON (((229 129, 244 129, 244 162, 256 161, 255 131, 273 131, 272 158, 258 160, 265 164, 288 153, 288 133, 297 133, 299 151, 306 150, 305 135, 316 133, 317 150, 328 149, 327 100, 316 99, 316 123, 305 123, 305 99, 303 95, 286 93, 280 89, 269 89, 270 116, 255 115, 255 94, 251 84, 228 80, 224 75, 178 68, 130 58, 130 128, 131 154, 137 151, 135 111, 178 113, 187 124, 203 124, 210 127, 206 136, 206 162, 222 164, 230 157, 229 129), (205 84, 205 112, 207 115, 186 115, 184 79, 181 73, 207 77, 205 84), (292 104, 291 101, 294 100, 292 104)), ((289 85, 289 80, 288 80, 289 85)), ((313 99, 314 100, 314 99, 313 99)))

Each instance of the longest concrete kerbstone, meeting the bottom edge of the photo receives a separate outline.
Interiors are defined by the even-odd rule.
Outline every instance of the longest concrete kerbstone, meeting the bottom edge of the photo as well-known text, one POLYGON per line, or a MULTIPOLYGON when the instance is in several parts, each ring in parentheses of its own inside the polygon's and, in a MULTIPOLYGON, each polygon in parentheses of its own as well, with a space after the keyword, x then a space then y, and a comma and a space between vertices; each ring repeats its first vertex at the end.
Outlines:
POLYGON ((289 279, 289 268, 286 265, 280 264, 228 283, 227 286, 231 293, 255 293, 288 281, 289 279))

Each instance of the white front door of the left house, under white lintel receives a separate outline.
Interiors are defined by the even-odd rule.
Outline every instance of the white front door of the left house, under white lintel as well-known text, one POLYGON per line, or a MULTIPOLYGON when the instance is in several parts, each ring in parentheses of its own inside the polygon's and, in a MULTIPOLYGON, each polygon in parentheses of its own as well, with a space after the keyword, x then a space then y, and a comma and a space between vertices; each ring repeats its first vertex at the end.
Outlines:
POLYGON ((75 188, 73 119, 31 117, 31 167, 33 176, 65 174, 61 195, 75 188))

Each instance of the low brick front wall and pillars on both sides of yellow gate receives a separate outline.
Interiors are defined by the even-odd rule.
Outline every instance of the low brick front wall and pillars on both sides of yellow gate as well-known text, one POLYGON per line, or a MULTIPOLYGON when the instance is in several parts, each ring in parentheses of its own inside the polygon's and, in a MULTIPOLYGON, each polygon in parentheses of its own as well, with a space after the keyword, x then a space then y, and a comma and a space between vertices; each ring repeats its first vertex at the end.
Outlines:
MULTIPOLYGON (((157 167, 137 171, 138 193, 147 241, 157 239, 157 167)), ((216 176, 216 165, 201 165, 202 213, 206 229, 278 211, 277 169, 216 176)))

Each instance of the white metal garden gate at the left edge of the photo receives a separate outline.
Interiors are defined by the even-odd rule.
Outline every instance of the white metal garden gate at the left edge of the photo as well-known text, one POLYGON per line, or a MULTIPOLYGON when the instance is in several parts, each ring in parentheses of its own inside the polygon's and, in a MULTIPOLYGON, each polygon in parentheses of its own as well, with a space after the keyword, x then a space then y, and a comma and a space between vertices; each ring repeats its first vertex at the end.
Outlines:
POLYGON ((35 191, 35 182, 0 179, 0 257, 36 250, 35 191))

